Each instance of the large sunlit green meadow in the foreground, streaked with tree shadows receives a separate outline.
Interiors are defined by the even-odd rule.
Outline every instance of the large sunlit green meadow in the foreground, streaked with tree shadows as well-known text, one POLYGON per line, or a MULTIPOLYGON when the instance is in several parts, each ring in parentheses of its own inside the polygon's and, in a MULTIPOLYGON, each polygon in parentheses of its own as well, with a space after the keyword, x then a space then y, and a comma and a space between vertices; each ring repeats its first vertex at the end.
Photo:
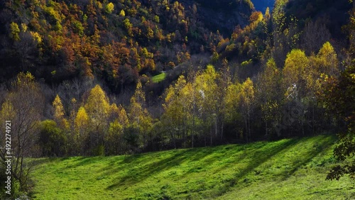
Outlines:
POLYGON ((111 157, 43 158, 34 199, 354 199, 326 181, 334 136, 111 157))

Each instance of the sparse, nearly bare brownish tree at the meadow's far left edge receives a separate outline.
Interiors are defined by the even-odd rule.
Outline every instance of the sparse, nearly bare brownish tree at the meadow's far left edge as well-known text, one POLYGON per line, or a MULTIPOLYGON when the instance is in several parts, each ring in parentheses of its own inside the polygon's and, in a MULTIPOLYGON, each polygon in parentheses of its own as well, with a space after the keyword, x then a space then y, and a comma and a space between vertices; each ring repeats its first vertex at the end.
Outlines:
MULTIPOLYGON (((31 164, 26 157, 36 155, 35 140, 38 137, 44 99, 33 75, 21 72, 12 82, 12 91, 2 105, 2 121, 11 121, 11 175, 19 183, 20 191, 28 189, 31 164)), ((1 126, 4 126, 1 123, 1 126)), ((4 128, 2 129, 4 130, 4 128)), ((2 136, 4 137, 4 136, 2 136)), ((1 138, 4 141, 4 138, 1 138)), ((5 144, 1 142, 1 144, 5 144)), ((0 148, 2 162, 6 160, 4 147, 0 148)))

